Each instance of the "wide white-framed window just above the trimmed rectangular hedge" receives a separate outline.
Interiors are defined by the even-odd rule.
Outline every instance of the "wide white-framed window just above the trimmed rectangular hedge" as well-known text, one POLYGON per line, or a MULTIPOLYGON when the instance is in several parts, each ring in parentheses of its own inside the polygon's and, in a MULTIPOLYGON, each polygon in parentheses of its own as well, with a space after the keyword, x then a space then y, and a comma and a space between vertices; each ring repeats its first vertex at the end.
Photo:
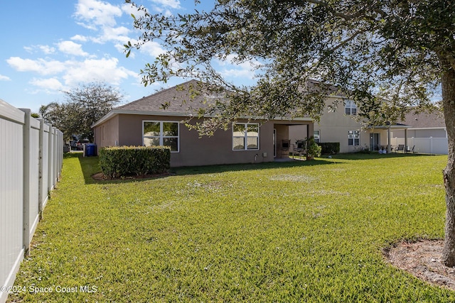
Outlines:
POLYGON ((171 153, 179 150, 179 126, 174 121, 143 121, 142 141, 145 146, 169 146, 171 153))

